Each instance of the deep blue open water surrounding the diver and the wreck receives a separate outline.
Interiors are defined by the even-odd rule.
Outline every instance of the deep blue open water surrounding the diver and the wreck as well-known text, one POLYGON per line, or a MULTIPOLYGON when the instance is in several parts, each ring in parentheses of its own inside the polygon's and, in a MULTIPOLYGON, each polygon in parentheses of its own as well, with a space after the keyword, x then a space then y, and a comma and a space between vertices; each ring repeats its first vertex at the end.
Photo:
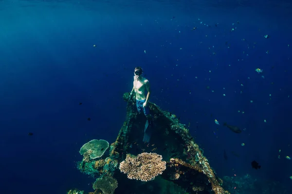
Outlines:
POLYGON ((291 193, 291 11, 288 0, 0 0, 1 193, 92 191, 80 147, 115 141, 135 66, 220 178, 291 193))

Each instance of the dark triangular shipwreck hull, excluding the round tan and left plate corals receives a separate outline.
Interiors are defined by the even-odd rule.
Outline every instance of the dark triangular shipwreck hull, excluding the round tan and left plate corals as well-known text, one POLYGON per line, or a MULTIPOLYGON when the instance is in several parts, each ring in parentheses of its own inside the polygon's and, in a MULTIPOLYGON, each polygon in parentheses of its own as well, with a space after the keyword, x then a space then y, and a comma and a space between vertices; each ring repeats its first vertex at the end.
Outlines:
MULTIPOLYGON (((117 180, 115 194, 229 194, 221 187, 222 180, 215 175, 188 129, 178 119, 155 104, 148 103, 155 128, 150 143, 144 143, 146 117, 137 112, 134 97, 129 98, 129 94, 125 93, 123 98, 127 102, 127 119, 116 141, 110 145, 109 155, 105 156, 107 158, 100 158, 96 162, 99 165, 95 165, 95 175, 117 180), (128 179, 119 170, 120 162, 126 159, 127 154, 138 155, 143 152, 161 155, 166 162, 166 169, 154 180, 143 182, 128 179)), ((102 193, 95 191, 99 192, 102 193)))

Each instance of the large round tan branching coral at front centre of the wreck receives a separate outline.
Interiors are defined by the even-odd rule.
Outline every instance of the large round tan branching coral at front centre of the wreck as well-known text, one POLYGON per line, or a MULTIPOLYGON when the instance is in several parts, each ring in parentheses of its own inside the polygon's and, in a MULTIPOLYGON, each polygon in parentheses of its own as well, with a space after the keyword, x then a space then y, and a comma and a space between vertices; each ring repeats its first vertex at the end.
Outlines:
POLYGON ((120 170, 129 179, 148 181, 161 175, 166 168, 165 164, 162 156, 156 153, 145 152, 137 157, 127 154, 126 160, 120 163, 120 170))

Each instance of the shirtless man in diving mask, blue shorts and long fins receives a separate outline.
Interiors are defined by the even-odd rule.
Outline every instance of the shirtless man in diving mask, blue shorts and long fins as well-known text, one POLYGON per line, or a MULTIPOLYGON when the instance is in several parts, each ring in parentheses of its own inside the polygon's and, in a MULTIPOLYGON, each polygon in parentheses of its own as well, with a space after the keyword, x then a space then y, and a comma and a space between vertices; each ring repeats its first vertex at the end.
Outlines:
POLYGON ((152 127, 152 118, 149 113, 149 108, 147 106, 149 96, 150 96, 150 85, 149 81, 142 76, 143 69, 140 66, 135 67, 134 71, 134 82, 133 89, 130 93, 130 98, 135 93, 136 94, 136 106, 138 113, 144 113, 147 121, 144 129, 144 142, 150 141, 151 136, 151 127, 152 127), (146 95, 147 92, 147 95, 146 95))

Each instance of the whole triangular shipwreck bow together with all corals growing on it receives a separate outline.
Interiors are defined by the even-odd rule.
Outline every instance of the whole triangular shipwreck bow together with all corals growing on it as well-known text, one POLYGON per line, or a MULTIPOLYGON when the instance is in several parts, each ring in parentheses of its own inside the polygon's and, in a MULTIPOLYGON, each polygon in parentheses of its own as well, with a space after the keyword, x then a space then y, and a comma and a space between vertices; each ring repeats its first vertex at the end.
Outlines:
MULTIPOLYGON (((146 117, 138 114, 135 97, 127 101, 127 119, 110 146, 104 140, 82 146, 78 169, 97 178, 91 194, 229 194, 185 125, 149 103, 155 130, 143 142, 146 117), (86 150, 87 149, 87 150, 86 150), (94 154, 94 157, 92 157, 94 154)), ((82 191, 71 190, 74 194, 82 191)))

